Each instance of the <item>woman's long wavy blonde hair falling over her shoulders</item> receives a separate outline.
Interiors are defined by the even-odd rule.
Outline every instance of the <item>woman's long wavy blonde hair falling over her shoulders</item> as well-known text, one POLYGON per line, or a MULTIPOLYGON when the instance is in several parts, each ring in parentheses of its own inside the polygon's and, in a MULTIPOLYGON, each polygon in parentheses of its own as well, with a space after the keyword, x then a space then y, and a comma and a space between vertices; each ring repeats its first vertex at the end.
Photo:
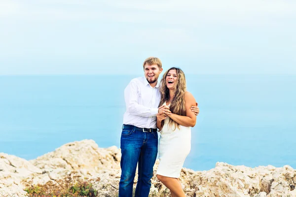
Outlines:
MULTIPOLYGON (((184 95, 186 92, 186 80, 185 80, 185 74, 184 74, 183 70, 181 70, 181 68, 171 67, 162 76, 162 79, 160 81, 161 97, 160 97, 160 102, 159 102, 158 107, 163 105, 164 102, 170 100, 170 91, 169 91, 168 87, 166 86, 166 77, 167 77, 170 70, 176 70, 177 76, 178 76, 177 81, 175 82, 175 85, 174 85, 175 94, 174 94, 174 98, 172 99, 171 104, 170 104, 170 111, 174 114, 185 116, 186 115, 186 108, 185 108, 184 95)), ((161 122, 161 126, 163 126, 163 125, 164 125, 164 120, 161 122)), ((176 130, 176 127, 178 129, 180 129, 180 125, 177 122, 170 119, 169 126, 171 127, 172 125, 175 125, 174 131, 176 130)))

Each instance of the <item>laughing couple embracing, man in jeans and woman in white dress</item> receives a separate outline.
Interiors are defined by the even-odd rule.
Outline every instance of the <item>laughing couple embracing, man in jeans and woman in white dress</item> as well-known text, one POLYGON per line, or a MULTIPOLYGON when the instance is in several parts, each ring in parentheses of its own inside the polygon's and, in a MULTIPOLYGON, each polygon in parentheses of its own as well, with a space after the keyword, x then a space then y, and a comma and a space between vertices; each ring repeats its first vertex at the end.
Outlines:
POLYGON ((148 197, 157 151, 158 180, 170 189, 172 197, 185 197, 179 176, 190 151, 190 127, 196 123, 199 108, 186 92, 185 74, 180 68, 167 70, 159 83, 161 61, 149 57, 143 67, 145 77, 132 79, 124 90, 119 197, 132 197, 137 164, 135 197, 148 197))

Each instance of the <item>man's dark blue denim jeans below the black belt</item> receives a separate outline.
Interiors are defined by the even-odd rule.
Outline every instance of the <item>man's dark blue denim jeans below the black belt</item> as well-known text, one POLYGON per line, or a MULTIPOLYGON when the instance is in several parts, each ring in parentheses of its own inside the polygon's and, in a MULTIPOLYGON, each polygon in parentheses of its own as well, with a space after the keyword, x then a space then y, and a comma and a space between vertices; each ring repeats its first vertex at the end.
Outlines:
POLYGON ((157 156, 158 134, 154 132, 123 129, 120 139, 121 177, 119 197, 133 196, 133 183, 138 163, 138 183, 135 197, 148 197, 153 165, 157 156))

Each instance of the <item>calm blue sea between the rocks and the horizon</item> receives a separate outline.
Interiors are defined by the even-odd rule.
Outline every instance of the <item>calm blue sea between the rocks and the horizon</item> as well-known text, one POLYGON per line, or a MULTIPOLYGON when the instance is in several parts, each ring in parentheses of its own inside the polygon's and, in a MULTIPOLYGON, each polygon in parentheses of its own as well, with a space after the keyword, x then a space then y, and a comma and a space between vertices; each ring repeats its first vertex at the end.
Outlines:
MULTIPOLYGON (((119 147, 123 91, 134 77, 0 76, 0 152, 30 160, 82 139, 119 147)), ((296 168, 296 75, 186 78, 200 115, 185 167, 296 168)))

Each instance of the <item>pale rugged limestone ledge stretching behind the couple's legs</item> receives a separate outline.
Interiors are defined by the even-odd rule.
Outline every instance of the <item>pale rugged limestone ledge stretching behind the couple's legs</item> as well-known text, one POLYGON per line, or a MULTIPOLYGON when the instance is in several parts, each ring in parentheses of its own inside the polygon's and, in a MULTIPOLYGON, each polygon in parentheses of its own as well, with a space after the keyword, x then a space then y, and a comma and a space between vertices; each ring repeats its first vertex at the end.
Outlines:
MULTIPOLYGON (((98 197, 117 197, 120 156, 115 146, 99 148, 93 140, 67 143, 31 161, 0 153, 0 197, 26 197, 28 184, 58 183, 71 173, 89 180, 98 197)), ((150 197, 169 197, 155 177, 157 165, 150 197)), ((187 197, 296 197, 296 170, 289 165, 251 168, 218 162, 208 171, 183 168, 180 179, 187 197)))

